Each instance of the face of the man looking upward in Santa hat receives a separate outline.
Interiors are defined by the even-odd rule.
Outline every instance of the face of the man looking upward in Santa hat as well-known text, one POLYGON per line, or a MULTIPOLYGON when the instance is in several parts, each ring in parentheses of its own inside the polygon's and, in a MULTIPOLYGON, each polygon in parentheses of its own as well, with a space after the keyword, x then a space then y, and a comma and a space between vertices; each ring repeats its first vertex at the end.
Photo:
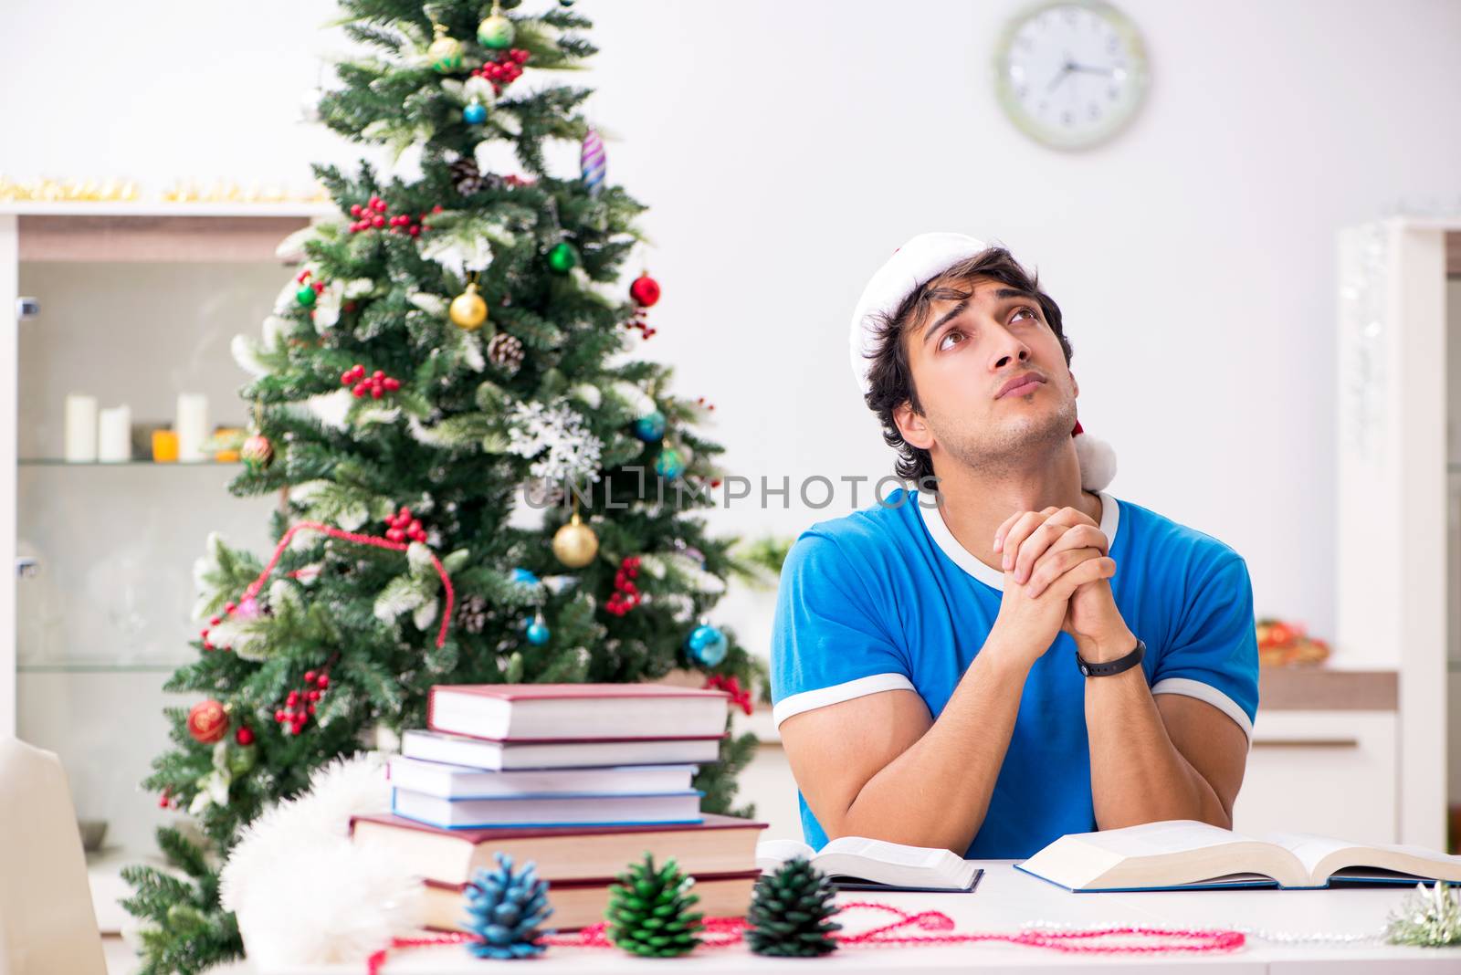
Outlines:
POLYGON ((985 473, 1021 467, 1031 452, 1069 438, 1080 387, 1034 295, 989 277, 953 290, 972 293, 935 298, 903 336, 923 415, 904 404, 894 413, 899 428, 935 467, 948 460, 985 473), (1031 384, 1001 393, 1027 374, 1031 384))

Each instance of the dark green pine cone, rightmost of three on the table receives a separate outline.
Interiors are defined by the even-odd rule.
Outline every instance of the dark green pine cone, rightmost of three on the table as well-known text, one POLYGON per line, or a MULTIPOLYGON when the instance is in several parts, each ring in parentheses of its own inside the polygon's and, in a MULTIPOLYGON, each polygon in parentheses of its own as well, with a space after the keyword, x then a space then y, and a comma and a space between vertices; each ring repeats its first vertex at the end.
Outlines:
POLYGON ((842 925, 827 920, 837 914, 836 893, 825 874, 805 858, 787 860, 776 873, 755 882, 747 912, 747 944, 757 955, 782 957, 814 957, 837 950, 831 933, 842 925))

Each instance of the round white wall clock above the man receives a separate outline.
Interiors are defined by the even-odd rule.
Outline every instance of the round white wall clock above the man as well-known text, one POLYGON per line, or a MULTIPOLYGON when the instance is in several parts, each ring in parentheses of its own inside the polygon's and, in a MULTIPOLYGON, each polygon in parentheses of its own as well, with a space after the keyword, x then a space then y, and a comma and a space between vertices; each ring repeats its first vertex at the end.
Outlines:
POLYGON ((1005 26, 995 90, 1026 134, 1056 149, 1113 136, 1141 105, 1147 53, 1124 13, 1100 0, 1053 0, 1005 26))

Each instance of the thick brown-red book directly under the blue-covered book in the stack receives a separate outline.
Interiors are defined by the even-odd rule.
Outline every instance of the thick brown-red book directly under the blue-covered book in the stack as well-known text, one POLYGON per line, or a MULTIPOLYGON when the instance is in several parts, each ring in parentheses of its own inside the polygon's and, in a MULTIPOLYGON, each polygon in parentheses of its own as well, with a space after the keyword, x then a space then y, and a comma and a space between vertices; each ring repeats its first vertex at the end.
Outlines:
POLYGON ((656 863, 675 857, 681 868, 735 873, 755 867, 755 844, 766 823, 703 813, 698 823, 633 826, 522 826, 440 829, 386 813, 355 816, 351 835, 361 847, 390 849, 435 883, 466 883, 478 867, 494 868, 494 852, 514 863, 533 861, 545 880, 609 883, 627 863, 646 852, 656 863))

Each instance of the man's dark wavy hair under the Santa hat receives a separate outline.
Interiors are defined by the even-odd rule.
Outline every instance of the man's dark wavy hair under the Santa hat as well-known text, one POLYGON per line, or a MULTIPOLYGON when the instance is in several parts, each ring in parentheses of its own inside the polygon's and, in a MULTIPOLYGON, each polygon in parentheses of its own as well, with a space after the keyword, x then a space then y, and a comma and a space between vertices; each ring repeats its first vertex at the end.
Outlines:
POLYGON ((1067 365, 1071 362, 1072 349, 1061 324, 1059 305, 1040 290, 1039 276, 1020 267, 1020 263, 1002 247, 989 247, 958 261, 925 282, 904 298, 891 314, 880 315, 875 320, 874 350, 868 356, 872 365, 868 369, 868 393, 863 398, 868 409, 877 413, 882 423, 882 439, 899 451, 899 460, 894 464, 899 477, 918 482, 920 488, 925 483, 937 483, 934 460, 926 450, 904 441, 899 425, 893 422, 893 412, 904 403, 909 403, 919 416, 923 415, 923 404, 919 403, 918 390, 913 387, 913 371, 909 368, 904 336, 923 327, 931 302, 964 301, 973 295, 973 289, 966 290, 960 286, 967 285, 974 277, 992 277, 1001 285, 1029 293, 1039 302, 1040 315, 1061 340, 1061 352, 1065 353, 1067 365))

